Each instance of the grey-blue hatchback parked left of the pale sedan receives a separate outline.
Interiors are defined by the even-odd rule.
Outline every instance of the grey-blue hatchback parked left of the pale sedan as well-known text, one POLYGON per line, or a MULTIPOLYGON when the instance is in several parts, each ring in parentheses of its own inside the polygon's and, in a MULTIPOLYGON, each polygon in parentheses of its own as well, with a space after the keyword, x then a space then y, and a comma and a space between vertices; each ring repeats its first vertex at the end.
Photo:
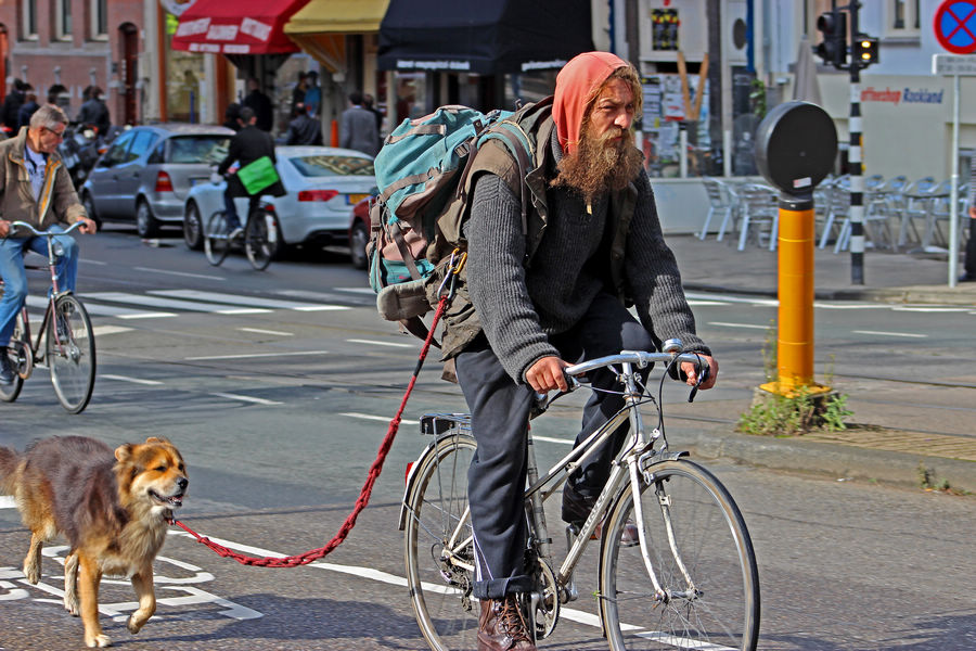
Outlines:
POLYGON ((99 157, 81 186, 81 203, 99 221, 136 221, 140 237, 162 225, 181 226, 195 183, 227 155, 234 135, 226 127, 158 124, 133 127, 99 157))

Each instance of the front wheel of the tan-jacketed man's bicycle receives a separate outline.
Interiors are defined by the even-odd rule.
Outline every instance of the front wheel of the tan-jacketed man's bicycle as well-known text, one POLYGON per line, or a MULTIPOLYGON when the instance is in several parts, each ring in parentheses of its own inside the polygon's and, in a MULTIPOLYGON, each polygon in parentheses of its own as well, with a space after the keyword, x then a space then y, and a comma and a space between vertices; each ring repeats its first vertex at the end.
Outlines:
POLYGON ((80 413, 94 388, 95 353, 91 319, 77 297, 65 294, 54 302, 47 340, 54 393, 62 407, 70 413, 80 413))

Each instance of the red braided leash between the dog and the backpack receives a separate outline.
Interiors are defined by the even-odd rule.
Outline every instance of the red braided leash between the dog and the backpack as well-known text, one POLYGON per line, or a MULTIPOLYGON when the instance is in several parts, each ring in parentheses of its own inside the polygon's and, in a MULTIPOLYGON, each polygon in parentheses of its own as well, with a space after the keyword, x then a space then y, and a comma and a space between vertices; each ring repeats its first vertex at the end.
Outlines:
MULTIPOLYGON (((453 269, 448 278, 455 277, 458 271, 461 270, 462 265, 463 261, 453 269)), ((451 285, 453 285, 453 283, 451 283, 451 285)), ((351 532, 352 527, 356 525, 356 519, 359 516, 360 511, 362 511, 370 501, 370 495, 373 493, 373 484, 375 484, 376 480, 380 477, 380 472, 383 470, 383 462, 386 460, 386 455, 389 452, 389 448, 393 447, 394 438, 396 438, 397 436, 397 430, 400 429, 400 418, 403 416, 403 409, 406 409, 407 407, 407 399, 410 397, 410 393, 413 391, 413 385, 416 384, 416 376, 420 374, 421 367, 424 365, 424 359, 427 357, 427 352, 431 349, 431 342, 434 340, 434 330, 437 327, 437 321, 440 320, 444 308, 452 295, 453 286, 451 286, 450 294, 441 295, 440 302, 437 304, 437 310, 434 312, 434 320, 431 322, 431 331, 427 333, 427 339, 424 340, 424 346, 423 348, 421 348, 420 359, 418 359, 416 361, 416 368, 413 369, 413 376, 410 379, 410 384, 407 385, 407 393, 403 394, 402 401, 400 401, 400 409, 397 411, 397 414, 394 417, 394 419, 389 421, 389 429, 386 431, 386 437, 380 445, 380 450, 376 452, 376 460, 373 461, 373 464, 370 467, 370 472, 369 475, 367 475, 365 484, 363 484, 362 486, 362 492, 360 492, 359 494, 359 499, 356 500, 356 506, 352 508, 352 511, 346 518, 346 521, 339 527, 338 532, 336 532, 332 540, 330 540, 324 547, 311 549, 298 556, 284 558, 249 557, 232 551, 222 545, 218 545, 206 536, 201 536, 179 520, 172 520, 170 521, 170 524, 179 526, 184 532, 196 538, 197 542, 206 545, 218 554, 224 558, 233 559, 242 565, 257 565, 260 567, 297 567, 298 565, 306 565, 313 561, 318 561, 322 557, 331 553, 332 550, 338 547, 343 542, 343 540, 346 539, 346 536, 349 535, 349 532, 351 532)))

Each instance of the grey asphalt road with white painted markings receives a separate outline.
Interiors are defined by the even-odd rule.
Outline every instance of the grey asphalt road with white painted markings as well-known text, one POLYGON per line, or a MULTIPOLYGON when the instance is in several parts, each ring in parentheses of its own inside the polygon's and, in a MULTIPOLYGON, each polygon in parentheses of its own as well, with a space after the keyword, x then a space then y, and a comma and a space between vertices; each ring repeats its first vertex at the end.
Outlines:
MULTIPOLYGON (((241 257, 211 268, 178 240, 157 244, 113 230, 82 240, 80 294, 99 336, 92 403, 80 416, 63 412, 40 370, 16 403, 0 405, 0 443, 22 449, 37 437, 81 434, 118 445, 164 435, 190 468, 190 497, 179 513, 189 526, 249 556, 323 546, 359 495, 419 342, 377 319, 363 275, 341 256, 295 256, 257 273, 241 257)), ((42 291, 42 278, 31 286, 42 291)), ((721 384, 691 406, 680 386, 667 386, 675 447, 682 432, 732 426, 728 406, 761 381, 760 349, 774 316, 756 298, 693 302, 699 330, 717 342, 721 384)), ((927 410, 920 426, 972 435, 972 401, 962 397, 971 395, 972 363, 961 369, 946 360, 972 350, 973 318, 965 310, 819 308, 818 370, 833 355, 834 378, 852 388, 855 403, 885 399, 884 392, 857 391, 866 375, 884 378, 883 386, 913 383, 927 410)), ((134 608, 131 588, 103 584, 103 625, 116 644, 424 649, 403 587, 396 522, 407 464, 427 443, 416 418, 464 409, 436 367, 432 360, 421 374, 370 506, 334 553, 298 569, 248 567, 174 529, 156 564, 159 610, 142 633, 132 636, 124 625, 134 608)), ((547 439, 537 445, 541 464, 567 449, 581 399, 570 396, 534 424, 537 438, 547 439)), ((917 410, 891 403, 884 408, 892 418, 917 410)), ((721 462, 709 468, 735 496, 756 546, 760 648, 976 648, 971 497, 721 462)), ((27 539, 9 500, 0 501, 0 648, 81 648, 81 624, 60 604, 64 549, 47 548, 44 576, 29 586, 20 572, 27 539)), ((594 562, 590 549, 579 573, 582 597, 542 648, 606 648, 582 615, 595 612, 587 597, 594 562)))

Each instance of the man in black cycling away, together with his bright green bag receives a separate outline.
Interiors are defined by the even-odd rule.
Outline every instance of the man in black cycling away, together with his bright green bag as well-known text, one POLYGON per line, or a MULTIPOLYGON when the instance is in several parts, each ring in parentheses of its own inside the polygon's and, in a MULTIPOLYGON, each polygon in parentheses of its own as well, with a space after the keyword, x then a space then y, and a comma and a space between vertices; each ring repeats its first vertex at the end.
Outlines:
POLYGON ((234 199, 248 197, 247 212, 251 214, 260 201, 261 195, 284 196, 285 190, 274 169, 278 159, 274 156, 274 140, 267 131, 261 131, 255 124, 257 117, 252 108, 241 110, 243 128, 230 141, 227 157, 217 167, 217 174, 227 176, 227 189, 223 191, 227 230, 231 239, 241 231, 241 218, 234 206, 234 199), (237 163, 236 174, 228 174, 230 166, 237 163))

